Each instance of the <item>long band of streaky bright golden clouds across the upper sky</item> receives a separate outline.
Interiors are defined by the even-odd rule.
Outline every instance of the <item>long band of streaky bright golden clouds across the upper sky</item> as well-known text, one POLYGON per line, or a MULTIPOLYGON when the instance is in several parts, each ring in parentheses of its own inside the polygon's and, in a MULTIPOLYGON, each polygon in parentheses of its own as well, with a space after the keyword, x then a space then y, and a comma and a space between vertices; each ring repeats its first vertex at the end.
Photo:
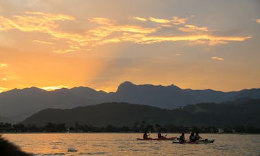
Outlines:
MULTIPOLYGON (((138 21, 146 20, 138 16, 131 18, 138 21)), ((55 45, 52 48, 54 49, 53 52, 59 54, 91 49, 91 47, 109 43, 152 44, 182 41, 194 45, 205 44, 213 46, 226 44, 230 41, 245 41, 251 38, 251 36, 214 36, 209 34, 210 29, 208 27, 185 25, 187 19, 177 16, 173 16, 173 19, 157 19, 150 16, 149 20, 159 23, 160 26, 158 27, 158 25, 152 23, 149 23, 150 27, 147 25, 142 26, 140 23, 139 25, 122 24, 114 19, 94 17, 88 20, 90 23, 94 23, 94 27, 86 30, 85 33, 77 34, 60 30, 61 21, 76 21, 73 16, 44 12, 24 12, 10 19, 0 16, 0 31, 16 29, 21 32, 41 32, 47 34, 50 36, 48 41, 35 38, 33 42, 55 45), (171 27, 171 32, 163 33, 164 29, 168 27, 171 27), (181 34, 175 34, 176 30, 180 30, 181 34), (50 42, 50 39, 52 39, 52 42, 50 42), (56 46, 56 44, 63 45, 56 46)), ((169 28, 167 31, 169 31, 169 28)))

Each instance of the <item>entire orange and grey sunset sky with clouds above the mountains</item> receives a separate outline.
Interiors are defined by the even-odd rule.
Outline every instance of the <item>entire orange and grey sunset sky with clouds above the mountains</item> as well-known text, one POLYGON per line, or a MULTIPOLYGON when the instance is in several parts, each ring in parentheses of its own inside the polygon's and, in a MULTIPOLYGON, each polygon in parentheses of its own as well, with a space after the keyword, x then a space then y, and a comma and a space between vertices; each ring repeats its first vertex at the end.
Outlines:
POLYGON ((0 92, 260 87, 258 0, 0 0, 0 92))

